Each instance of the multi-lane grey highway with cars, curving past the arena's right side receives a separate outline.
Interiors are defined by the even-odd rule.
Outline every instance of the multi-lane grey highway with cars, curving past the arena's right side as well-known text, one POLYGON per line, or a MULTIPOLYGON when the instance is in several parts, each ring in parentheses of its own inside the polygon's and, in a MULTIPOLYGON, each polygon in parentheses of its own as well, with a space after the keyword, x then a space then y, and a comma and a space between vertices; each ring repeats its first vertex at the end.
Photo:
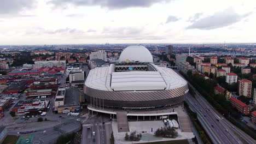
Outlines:
POLYGON ((197 113, 200 123, 213 143, 256 143, 252 137, 236 128, 218 113, 189 82, 188 85, 194 89, 196 94, 195 98, 188 94, 185 101, 187 101, 190 109, 197 113))

